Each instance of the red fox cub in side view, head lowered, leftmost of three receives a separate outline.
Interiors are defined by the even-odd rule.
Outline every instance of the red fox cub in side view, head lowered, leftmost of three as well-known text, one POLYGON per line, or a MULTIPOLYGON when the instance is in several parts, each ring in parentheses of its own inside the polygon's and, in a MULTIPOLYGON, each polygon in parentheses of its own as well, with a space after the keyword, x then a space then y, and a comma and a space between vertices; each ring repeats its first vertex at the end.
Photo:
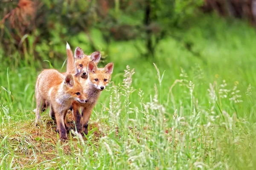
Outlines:
POLYGON ((72 76, 72 74, 64 76, 55 69, 45 69, 38 75, 35 85, 36 126, 40 122, 41 107, 49 103, 50 114, 55 117, 60 138, 67 139, 67 123, 65 121, 67 110, 73 101, 87 102, 83 87, 77 79, 80 75, 81 72, 75 76, 72 76))

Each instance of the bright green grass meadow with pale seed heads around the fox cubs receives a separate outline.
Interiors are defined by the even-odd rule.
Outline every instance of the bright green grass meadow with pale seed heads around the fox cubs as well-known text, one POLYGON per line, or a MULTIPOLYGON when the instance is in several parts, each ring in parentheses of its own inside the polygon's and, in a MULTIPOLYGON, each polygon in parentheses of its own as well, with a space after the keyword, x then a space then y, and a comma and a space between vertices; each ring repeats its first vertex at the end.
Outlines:
MULTIPOLYGON (((35 80, 49 63, 0 53, 0 169, 253 169, 255 30, 214 16, 193 25, 176 33, 206 63, 171 37, 152 60, 136 51, 140 41, 111 42, 113 84, 93 110, 89 135, 67 142, 47 113, 34 126, 35 80)), ((65 56, 48 60, 61 69, 65 56)))

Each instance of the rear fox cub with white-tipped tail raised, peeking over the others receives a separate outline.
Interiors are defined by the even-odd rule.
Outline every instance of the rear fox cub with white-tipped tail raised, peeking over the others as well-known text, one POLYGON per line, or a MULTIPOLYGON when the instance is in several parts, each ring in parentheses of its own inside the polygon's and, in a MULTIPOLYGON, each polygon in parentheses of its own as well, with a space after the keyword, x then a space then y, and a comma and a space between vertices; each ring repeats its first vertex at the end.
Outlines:
MULTIPOLYGON (((67 43, 67 72, 65 74, 74 74, 75 72, 80 72, 81 68, 86 68, 90 61, 93 61, 96 65, 99 63, 101 54, 99 51, 95 51, 89 56, 85 55, 80 47, 76 47, 75 57, 73 57, 73 52, 70 49, 70 45, 67 43)), ((87 69, 81 74, 82 79, 87 79, 87 69)))

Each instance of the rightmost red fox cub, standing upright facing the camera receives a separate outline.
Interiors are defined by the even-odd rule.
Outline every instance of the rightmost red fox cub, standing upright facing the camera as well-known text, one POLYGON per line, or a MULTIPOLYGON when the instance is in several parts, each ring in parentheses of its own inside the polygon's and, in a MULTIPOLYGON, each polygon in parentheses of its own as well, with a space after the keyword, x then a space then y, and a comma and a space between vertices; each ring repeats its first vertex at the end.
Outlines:
POLYGON ((84 134, 88 134, 88 121, 94 106, 96 105, 99 95, 106 88, 111 80, 111 74, 113 73, 113 62, 108 63, 104 68, 97 68, 93 61, 90 61, 87 66, 88 79, 85 83, 82 83, 84 94, 88 97, 88 102, 79 104, 73 102, 73 114, 75 117, 76 128, 78 131, 83 131, 84 134), (83 125, 81 127, 81 114, 79 108, 81 107, 83 116, 83 125))

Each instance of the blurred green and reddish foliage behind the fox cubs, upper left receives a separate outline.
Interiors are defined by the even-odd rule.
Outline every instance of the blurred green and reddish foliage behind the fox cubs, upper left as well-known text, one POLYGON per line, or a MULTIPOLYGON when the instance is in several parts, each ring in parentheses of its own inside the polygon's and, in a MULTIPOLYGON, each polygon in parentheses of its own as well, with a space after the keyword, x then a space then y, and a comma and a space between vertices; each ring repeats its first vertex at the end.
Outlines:
MULTIPOLYGON (((3 0, 3 51, 23 59, 65 59, 65 42, 85 54, 108 56, 113 41, 140 40, 144 57, 154 57, 160 40, 198 14, 204 0, 3 0)), ((200 12, 199 12, 200 13, 200 12)), ((185 24, 186 25, 186 24, 185 24)))

